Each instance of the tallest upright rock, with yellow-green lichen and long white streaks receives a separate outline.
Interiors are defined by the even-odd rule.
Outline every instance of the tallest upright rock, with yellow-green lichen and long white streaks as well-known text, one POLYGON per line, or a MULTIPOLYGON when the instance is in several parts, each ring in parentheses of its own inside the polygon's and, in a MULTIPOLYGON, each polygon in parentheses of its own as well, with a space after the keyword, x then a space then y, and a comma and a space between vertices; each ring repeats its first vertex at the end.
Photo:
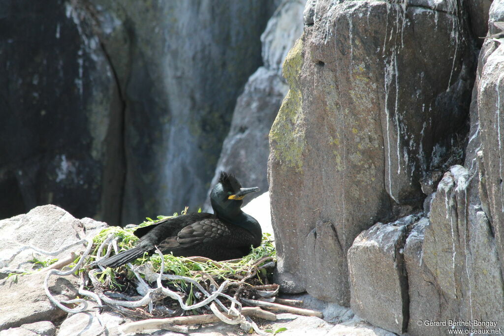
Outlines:
POLYGON ((319 296, 311 291, 325 287, 326 299, 349 298, 339 257, 362 230, 421 209, 418 180, 453 154, 474 50, 452 2, 418 3, 321 0, 305 9, 283 69, 289 93, 270 131, 275 281, 286 290, 319 296), (321 238, 331 253, 308 256, 299 246, 312 246, 318 223, 332 223, 334 235, 321 238), (335 270, 318 287, 307 277, 313 260, 335 270))

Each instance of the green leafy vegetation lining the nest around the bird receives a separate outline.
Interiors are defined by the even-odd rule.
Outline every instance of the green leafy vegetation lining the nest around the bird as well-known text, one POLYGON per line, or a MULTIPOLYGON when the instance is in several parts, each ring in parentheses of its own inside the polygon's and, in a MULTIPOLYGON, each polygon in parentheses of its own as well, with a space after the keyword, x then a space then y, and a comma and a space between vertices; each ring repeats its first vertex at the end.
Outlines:
MULTIPOLYGON (((186 212, 187 208, 181 214, 184 215, 186 212)), ((114 240, 117 243, 117 252, 132 248, 138 240, 134 234, 136 229, 174 216, 177 216, 177 214, 175 213, 169 217, 158 216, 156 220, 147 218, 145 222, 133 228, 109 227, 103 229, 94 237, 91 253, 86 257, 81 270, 77 272, 85 272, 89 268, 95 268, 96 266, 93 263, 98 259, 98 256, 105 255, 108 249, 113 248, 112 242, 114 240)), ((211 285, 219 286, 225 280, 238 283, 243 278, 249 278, 249 282, 254 285, 262 285, 264 279, 270 276, 267 270, 271 270, 271 268, 262 268, 261 266, 273 261, 276 255, 275 246, 270 236, 268 233, 263 234, 263 241, 259 247, 252 248, 250 254, 236 260, 217 262, 204 257, 176 257, 171 254, 164 254, 164 274, 187 277, 206 288, 211 285)), ((79 257, 68 267, 74 267, 78 261, 79 257)), ((148 264, 152 271, 158 273, 161 270, 161 256, 157 253, 152 255, 145 253, 143 257, 136 259, 131 264, 134 266, 148 264)), ((103 272, 96 273, 96 277, 105 290, 124 292, 135 288, 135 286, 131 286, 135 274, 129 265, 106 268, 103 272)), ((184 279, 164 280, 163 284, 172 290, 184 293, 184 300, 187 305, 198 301, 199 291, 196 286, 184 279)))

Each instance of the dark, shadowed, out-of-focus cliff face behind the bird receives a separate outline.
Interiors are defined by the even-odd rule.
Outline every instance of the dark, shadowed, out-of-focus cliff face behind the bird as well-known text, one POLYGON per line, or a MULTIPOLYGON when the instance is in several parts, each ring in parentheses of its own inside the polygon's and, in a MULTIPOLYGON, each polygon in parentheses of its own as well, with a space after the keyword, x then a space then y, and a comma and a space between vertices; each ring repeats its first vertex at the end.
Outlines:
POLYGON ((275 8, 4 2, 0 217, 54 203, 119 224, 201 205, 275 8))

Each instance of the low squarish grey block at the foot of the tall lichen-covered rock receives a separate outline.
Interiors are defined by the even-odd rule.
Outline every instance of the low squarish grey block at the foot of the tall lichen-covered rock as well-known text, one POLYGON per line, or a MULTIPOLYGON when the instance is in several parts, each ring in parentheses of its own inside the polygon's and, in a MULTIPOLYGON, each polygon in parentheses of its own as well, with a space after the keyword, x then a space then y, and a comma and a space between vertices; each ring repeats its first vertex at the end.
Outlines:
POLYGON ((348 250, 350 307, 359 317, 395 333, 406 332, 408 277, 403 246, 408 225, 418 216, 377 223, 355 238, 348 250))

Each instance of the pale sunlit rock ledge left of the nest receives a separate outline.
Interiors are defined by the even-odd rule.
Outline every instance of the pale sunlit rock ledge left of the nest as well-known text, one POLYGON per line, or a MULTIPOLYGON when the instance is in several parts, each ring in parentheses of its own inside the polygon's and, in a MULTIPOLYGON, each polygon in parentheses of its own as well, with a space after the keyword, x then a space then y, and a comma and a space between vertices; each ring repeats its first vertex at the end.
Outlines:
MULTIPOLYGON (((35 271, 36 265, 28 262, 34 257, 41 260, 66 258, 71 252, 84 249, 86 243, 78 242, 93 237, 105 227, 105 223, 90 218, 78 220, 53 205, 36 207, 27 214, 0 221, 0 236, 4 237, 0 268, 0 329, 20 326, 27 329, 22 324, 57 321, 64 316, 66 312, 56 308, 44 292, 44 272, 8 276, 35 271), (43 253, 54 251, 59 253, 43 253)), ((49 290, 59 301, 75 298, 78 288, 75 276, 52 276, 49 280, 49 290)), ((25 332, 21 329, 16 332, 25 332)))

